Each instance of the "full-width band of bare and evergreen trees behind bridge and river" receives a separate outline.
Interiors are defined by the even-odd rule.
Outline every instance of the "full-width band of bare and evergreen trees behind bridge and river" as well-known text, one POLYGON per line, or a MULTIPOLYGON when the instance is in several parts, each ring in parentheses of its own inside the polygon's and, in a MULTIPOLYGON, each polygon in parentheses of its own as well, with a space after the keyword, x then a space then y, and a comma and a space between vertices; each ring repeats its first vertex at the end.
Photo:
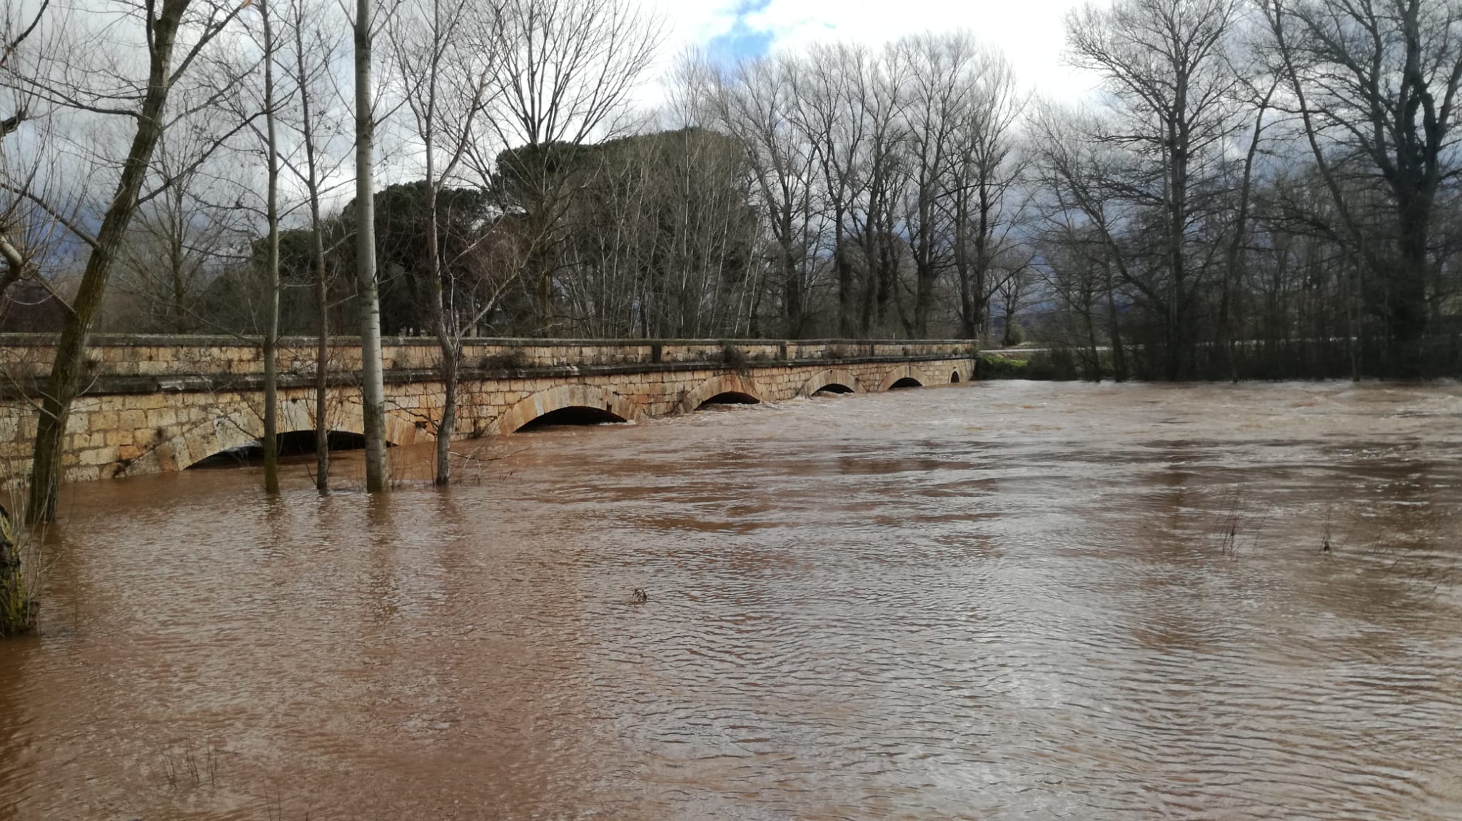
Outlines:
POLYGON ((6 6, 0 327, 47 302, 64 330, 38 476, 95 329, 358 329, 377 416, 373 332, 430 335, 443 431, 472 335, 1034 332, 1092 378, 1458 368, 1462 0, 1089 6, 1075 107, 950 32, 683 54, 640 111, 661 23, 633 0, 352 12, 6 6))

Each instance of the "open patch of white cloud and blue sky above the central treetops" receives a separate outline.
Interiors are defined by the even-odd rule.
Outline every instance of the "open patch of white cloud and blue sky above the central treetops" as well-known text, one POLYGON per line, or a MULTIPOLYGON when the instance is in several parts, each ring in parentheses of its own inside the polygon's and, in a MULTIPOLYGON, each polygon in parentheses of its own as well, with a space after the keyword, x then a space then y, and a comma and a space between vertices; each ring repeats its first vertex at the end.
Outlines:
POLYGON ((816 41, 879 45, 925 29, 966 28, 1000 48, 1018 80, 1075 101, 1095 82, 1063 60, 1066 12, 1085 0, 645 0, 670 31, 668 64, 694 44, 721 58, 795 50, 816 41))

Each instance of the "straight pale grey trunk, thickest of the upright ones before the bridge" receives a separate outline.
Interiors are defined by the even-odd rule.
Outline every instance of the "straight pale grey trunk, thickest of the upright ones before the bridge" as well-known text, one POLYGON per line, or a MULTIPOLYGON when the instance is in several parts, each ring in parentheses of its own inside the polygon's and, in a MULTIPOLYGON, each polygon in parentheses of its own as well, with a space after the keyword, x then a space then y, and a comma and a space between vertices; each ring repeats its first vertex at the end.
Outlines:
POLYGON ((361 313, 361 422, 366 489, 386 489, 386 386, 376 292, 376 203, 371 190, 374 111, 370 88, 370 0, 355 0, 355 291, 361 313))

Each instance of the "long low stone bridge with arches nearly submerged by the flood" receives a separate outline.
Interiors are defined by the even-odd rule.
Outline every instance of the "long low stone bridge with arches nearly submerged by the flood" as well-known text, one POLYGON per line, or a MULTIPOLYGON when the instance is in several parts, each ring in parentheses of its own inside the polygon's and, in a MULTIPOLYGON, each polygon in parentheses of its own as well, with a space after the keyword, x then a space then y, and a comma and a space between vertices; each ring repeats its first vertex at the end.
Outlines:
MULTIPOLYGON (((54 355, 44 336, 0 335, 0 482, 23 475, 54 355)), ((279 348, 279 431, 314 431, 317 343, 279 348)), ((387 339, 386 438, 434 438, 443 390, 431 339, 387 339)), ((329 427, 361 434, 358 340, 329 345, 329 427)), ((817 392, 864 393, 971 378, 968 342, 839 340, 468 340, 458 437, 512 434, 575 415, 632 421, 716 402, 781 402, 817 392), (550 416, 554 415, 554 416, 550 416)), ((253 444, 263 432, 263 356, 235 337, 95 336, 86 389, 66 434, 67 479, 181 470, 253 444)))

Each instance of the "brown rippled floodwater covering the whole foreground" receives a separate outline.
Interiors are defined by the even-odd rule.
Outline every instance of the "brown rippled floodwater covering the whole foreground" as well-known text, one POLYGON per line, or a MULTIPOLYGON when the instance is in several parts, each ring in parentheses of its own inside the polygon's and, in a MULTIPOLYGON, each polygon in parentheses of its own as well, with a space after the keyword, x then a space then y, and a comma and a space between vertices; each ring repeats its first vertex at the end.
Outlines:
POLYGON ((1462 818, 1456 384, 974 383, 472 447, 449 491, 395 451, 380 498, 307 459, 279 500, 73 488, 0 644, 0 815, 1462 818))

